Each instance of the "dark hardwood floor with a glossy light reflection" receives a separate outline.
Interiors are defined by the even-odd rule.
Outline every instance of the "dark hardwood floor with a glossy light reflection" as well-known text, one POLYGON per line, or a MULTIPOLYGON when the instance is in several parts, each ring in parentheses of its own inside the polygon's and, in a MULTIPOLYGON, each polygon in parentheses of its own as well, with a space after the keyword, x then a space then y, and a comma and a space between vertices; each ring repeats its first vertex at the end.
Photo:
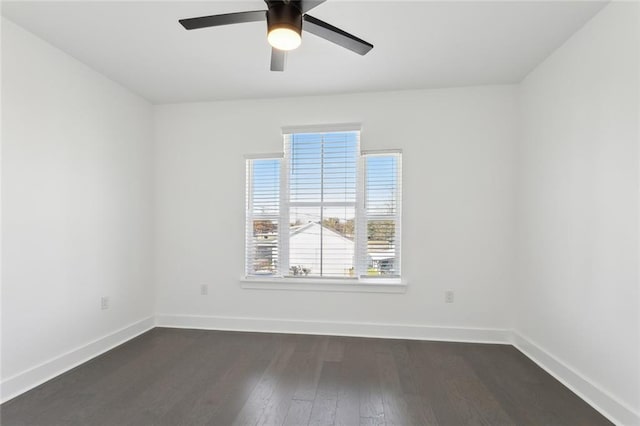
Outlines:
POLYGON ((156 328, 0 407, 10 425, 605 425, 508 345, 156 328))

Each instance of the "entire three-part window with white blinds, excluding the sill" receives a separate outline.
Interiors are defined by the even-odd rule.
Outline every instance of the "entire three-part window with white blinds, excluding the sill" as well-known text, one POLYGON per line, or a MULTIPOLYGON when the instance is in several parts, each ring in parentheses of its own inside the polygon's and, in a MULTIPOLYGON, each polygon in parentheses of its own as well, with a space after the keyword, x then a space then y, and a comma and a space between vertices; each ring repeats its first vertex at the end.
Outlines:
POLYGON ((401 154, 359 130, 285 131, 284 155, 247 159, 246 275, 400 277, 401 154))

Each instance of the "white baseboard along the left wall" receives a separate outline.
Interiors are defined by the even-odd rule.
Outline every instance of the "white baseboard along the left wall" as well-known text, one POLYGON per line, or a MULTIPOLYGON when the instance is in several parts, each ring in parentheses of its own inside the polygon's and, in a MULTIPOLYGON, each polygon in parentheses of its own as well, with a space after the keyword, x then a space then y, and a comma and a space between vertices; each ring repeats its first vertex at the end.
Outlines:
POLYGON ((145 318, 89 342, 86 345, 50 359, 49 361, 43 362, 22 373, 9 377, 0 383, 0 401, 6 402, 13 399, 154 327, 154 318, 145 318))

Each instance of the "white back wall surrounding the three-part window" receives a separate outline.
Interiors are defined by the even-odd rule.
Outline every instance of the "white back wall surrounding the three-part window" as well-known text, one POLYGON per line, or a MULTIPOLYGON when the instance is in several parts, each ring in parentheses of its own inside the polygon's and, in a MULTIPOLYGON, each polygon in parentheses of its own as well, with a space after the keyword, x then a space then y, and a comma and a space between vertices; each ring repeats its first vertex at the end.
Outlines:
POLYGON ((155 107, 157 312, 509 328, 516 118, 513 86, 155 107), (281 152, 282 126, 343 122, 363 149, 404 151, 407 293, 240 288, 243 156, 281 152))

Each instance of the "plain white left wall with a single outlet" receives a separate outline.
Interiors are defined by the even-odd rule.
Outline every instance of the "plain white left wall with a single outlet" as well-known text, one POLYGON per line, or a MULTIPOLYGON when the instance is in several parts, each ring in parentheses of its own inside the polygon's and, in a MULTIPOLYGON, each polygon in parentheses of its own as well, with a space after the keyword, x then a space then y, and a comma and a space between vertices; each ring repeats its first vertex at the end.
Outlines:
POLYGON ((2 107, 7 398, 153 314, 152 109, 6 19, 2 107))

